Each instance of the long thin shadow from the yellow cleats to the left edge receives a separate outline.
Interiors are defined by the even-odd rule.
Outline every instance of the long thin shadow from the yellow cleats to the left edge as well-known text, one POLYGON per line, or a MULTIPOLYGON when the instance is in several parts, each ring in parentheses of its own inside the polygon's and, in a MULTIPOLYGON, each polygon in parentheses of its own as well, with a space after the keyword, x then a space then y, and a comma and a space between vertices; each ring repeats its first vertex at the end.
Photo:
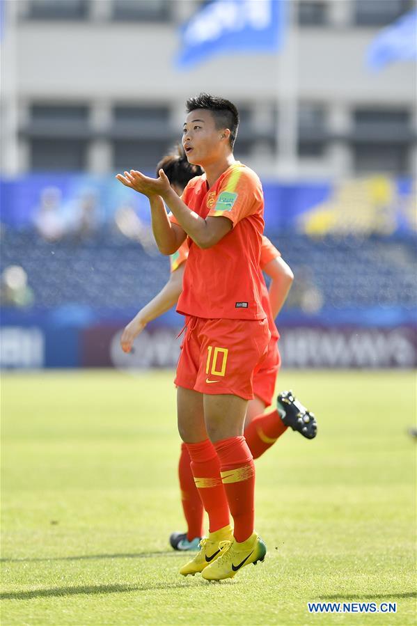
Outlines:
MULTIPOLYGON (((207 586, 203 580, 198 581, 207 586)), ((189 587, 188 581, 166 584, 155 583, 148 585, 86 585, 79 587, 55 587, 52 589, 33 589, 27 591, 10 591, 0 593, 0 600, 33 600, 36 597, 63 597, 66 595, 100 595, 104 593, 130 593, 132 591, 151 591, 155 589, 180 589, 189 587)))

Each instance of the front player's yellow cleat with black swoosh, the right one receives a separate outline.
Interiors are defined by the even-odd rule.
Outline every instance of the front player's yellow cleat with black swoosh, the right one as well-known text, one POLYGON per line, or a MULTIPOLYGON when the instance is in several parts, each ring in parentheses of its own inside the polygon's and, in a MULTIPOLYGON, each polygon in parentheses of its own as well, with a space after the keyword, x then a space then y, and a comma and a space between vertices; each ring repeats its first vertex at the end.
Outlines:
POLYGON ((249 563, 256 565, 258 561, 263 561, 267 554, 265 543, 256 533, 252 533, 242 543, 237 543, 235 539, 223 541, 219 548, 221 549, 219 558, 207 565, 201 574, 206 580, 233 578, 245 565, 249 563))

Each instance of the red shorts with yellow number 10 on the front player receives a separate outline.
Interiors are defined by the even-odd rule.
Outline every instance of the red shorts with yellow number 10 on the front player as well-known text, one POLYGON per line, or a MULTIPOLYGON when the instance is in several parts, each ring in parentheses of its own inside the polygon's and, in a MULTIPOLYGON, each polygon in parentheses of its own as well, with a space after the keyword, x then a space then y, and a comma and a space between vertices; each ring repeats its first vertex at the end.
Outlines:
POLYGON ((175 384, 214 396, 253 399, 253 370, 267 356, 267 320, 187 316, 175 384))

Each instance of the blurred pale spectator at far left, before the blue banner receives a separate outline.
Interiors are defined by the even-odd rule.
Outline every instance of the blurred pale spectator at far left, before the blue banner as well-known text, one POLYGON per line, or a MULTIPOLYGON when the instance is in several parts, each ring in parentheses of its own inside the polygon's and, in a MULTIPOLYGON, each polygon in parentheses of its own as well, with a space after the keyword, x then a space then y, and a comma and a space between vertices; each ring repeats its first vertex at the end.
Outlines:
POLYGON ((65 219, 61 211, 61 189, 45 187, 40 194, 40 205, 36 209, 34 224, 39 235, 56 242, 65 235, 65 219))

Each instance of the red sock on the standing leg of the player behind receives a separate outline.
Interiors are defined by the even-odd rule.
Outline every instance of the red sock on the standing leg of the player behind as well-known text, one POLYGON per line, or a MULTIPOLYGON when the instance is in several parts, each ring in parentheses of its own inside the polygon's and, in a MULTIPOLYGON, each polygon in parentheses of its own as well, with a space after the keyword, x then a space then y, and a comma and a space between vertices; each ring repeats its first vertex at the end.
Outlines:
POLYGON ((187 522, 187 539, 192 541, 194 538, 203 537, 204 535, 204 508, 194 483, 191 459, 186 444, 181 445, 178 476, 180 478, 182 509, 187 522))

